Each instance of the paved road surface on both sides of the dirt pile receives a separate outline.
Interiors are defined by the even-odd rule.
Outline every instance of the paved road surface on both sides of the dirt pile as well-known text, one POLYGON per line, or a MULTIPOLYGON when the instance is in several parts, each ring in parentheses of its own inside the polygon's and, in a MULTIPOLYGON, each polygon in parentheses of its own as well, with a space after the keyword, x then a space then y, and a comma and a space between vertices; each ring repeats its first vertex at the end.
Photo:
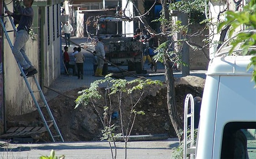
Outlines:
MULTIPOLYGON (((86 39, 72 38, 79 45, 86 44, 86 39)), ((73 46, 74 47, 74 46, 73 46)), ((72 52, 73 47, 69 47, 69 52, 72 52)), ((64 45, 63 45, 64 48, 64 45)), ((93 49, 93 48, 91 48, 93 49)), ((86 60, 84 62, 84 79, 77 79, 76 76, 66 76, 61 74, 60 77, 50 86, 50 88, 65 92, 79 87, 89 87, 91 82, 102 79, 103 77, 93 76, 93 55, 90 52, 82 49, 86 60)), ((153 72, 150 66, 145 63, 144 69, 147 74, 142 76, 152 80, 161 80, 165 82, 164 66, 161 63, 157 64, 158 71, 153 72)), ((127 69, 126 67, 122 67, 127 69)), ((118 71, 115 67, 109 67, 109 72, 118 71)), ((64 67, 62 66, 64 73, 64 67)), ((191 75, 205 78, 206 71, 191 71, 191 75)), ((174 72, 174 77, 181 77, 181 72, 174 72)), ((125 77, 127 80, 135 79, 135 77, 125 77)), ((102 87, 105 87, 102 84, 102 87)), ((49 90, 46 94, 46 100, 50 100, 59 95, 58 93, 49 90)), ((178 146, 177 138, 162 140, 162 141, 132 141, 128 142, 127 156, 128 159, 166 159, 170 158, 172 148, 178 146)), ((111 157, 108 142, 74 142, 74 143, 48 143, 48 144, 10 144, 8 153, 6 147, 0 149, 0 158, 3 159, 37 159, 41 155, 49 155, 51 149, 56 150, 57 156, 65 155, 65 159, 109 159, 111 157), (8 155, 8 156, 7 156, 8 155)), ((124 143, 117 142, 117 158, 124 158, 124 143)))

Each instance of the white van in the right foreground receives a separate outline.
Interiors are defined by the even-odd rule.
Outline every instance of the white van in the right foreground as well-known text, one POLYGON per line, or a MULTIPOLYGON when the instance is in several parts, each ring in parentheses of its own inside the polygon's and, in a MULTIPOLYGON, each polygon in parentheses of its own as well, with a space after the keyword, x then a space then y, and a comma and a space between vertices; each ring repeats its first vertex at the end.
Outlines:
POLYGON ((222 55, 208 67, 191 158, 256 159, 256 83, 253 68, 247 69, 252 56, 222 55))

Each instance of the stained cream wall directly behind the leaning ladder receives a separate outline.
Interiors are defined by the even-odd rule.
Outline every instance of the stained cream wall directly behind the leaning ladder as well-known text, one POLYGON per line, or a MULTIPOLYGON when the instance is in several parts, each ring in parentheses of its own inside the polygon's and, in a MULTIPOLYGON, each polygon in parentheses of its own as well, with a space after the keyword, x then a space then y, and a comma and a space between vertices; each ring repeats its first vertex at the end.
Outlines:
MULTIPOLYGON (((13 30, 10 23, 6 25, 7 30, 13 30)), ((14 42, 14 34, 10 33, 9 37, 14 42)), ((27 42, 27 55, 31 63, 38 68, 38 43, 27 42)), ((10 46, 4 39, 4 96, 5 96, 5 110, 7 117, 12 115, 19 115, 33 110, 33 100, 30 96, 26 83, 23 77, 20 77, 20 70, 12 54, 10 46)), ((38 77, 38 74, 37 74, 38 77)), ((29 79, 31 87, 36 90, 36 86, 32 80, 29 79)), ((38 97, 38 95, 36 95, 38 97)))

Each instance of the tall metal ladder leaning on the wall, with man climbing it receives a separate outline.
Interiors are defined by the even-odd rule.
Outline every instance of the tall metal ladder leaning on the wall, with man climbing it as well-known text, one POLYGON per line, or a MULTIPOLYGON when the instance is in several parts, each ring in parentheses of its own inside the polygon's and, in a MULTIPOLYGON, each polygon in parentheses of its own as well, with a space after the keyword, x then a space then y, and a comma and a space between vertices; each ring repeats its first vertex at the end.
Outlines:
MULTIPOLYGON (((5 2, 4 2, 3 4, 4 4, 4 9, 5 9, 5 10, 8 10, 8 8, 7 8, 6 4, 5 4, 5 2)), ((7 15, 7 16, 8 16, 8 15, 7 15)), ((14 32, 14 33, 16 33, 17 30, 16 30, 14 21, 13 21, 13 19, 11 18, 11 16, 8 16, 8 17, 9 17, 9 21, 10 21, 11 24, 12 24, 12 28, 13 28, 14 30, 11 30, 11 31, 7 31, 7 30, 6 30, 6 28, 5 28, 5 22, 4 22, 4 17, 7 17, 7 16, 2 16, 2 17, 0 18, 0 23, 1 23, 1 27, 2 27, 2 29, 3 29, 3 31, 4 31, 4 35, 5 35, 5 37, 6 37, 7 41, 8 41, 8 43, 9 43, 11 49, 12 49, 12 48, 13 48, 13 45, 12 45, 12 42, 11 42, 11 40, 10 40, 10 38, 9 38, 8 33, 9 33, 9 32, 14 32)), ((16 60, 16 59, 15 59, 15 60, 16 60)), ((31 95, 32 98, 33 98, 33 101, 34 101, 34 103, 35 103, 35 106, 37 107, 37 110, 38 110, 38 112, 39 112, 39 115, 41 116, 42 121, 44 122, 44 126, 45 126, 46 130, 47 130, 48 133, 49 133, 49 136, 51 137, 51 139, 52 139, 53 142, 56 142, 56 139, 59 139, 58 141, 64 142, 63 137, 62 137, 62 135, 61 135, 61 133, 60 133, 60 130, 59 130, 59 128, 58 128, 58 126, 57 126, 57 124, 56 124, 56 122, 55 122, 55 120, 54 120, 54 117, 53 117, 53 115, 52 115, 52 112, 50 111, 50 108, 49 108, 49 106, 48 106, 48 103, 47 103, 47 101, 46 101, 46 99, 45 99, 45 96, 44 96, 44 94, 43 94, 43 91, 41 90, 41 87, 40 87, 40 85, 39 85, 39 83, 38 83, 38 81, 37 81, 37 78, 35 77, 35 75, 33 75, 33 76, 25 76, 25 73, 23 72, 23 69, 22 69, 22 67, 20 66, 19 62, 18 62, 17 60, 16 60, 16 62, 17 62, 17 64, 18 64, 18 67, 19 67, 19 69, 20 69, 20 72, 21 72, 22 75, 23 75, 23 79, 24 79, 25 82, 26 82, 27 88, 29 89, 30 95, 31 95), (28 80, 27 80, 27 78, 29 78, 29 77, 33 77, 34 82, 35 82, 35 84, 37 85, 38 90, 33 91, 33 90, 31 89, 31 86, 30 86, 30 84, 29 84, 29 82, 28 82, 28 80), (44 106, 39 106, 39 104, 38 104, 38 102, 37 102, 37 99, 35 98, 35 95, 34 95, 34 93, 36 93, 36 92, 39 92, 40 97, 41 97, 42 101, 44 102, 44 106), (49 115, 48 118, 50 118, 49 121, 46 121, 45 116, 44 116, 44 114, 42 113, 41 108, 46 108, 46 110, 47 110, 47 112, 48 112, 48 115, 49 115), (50 130, 49 125, 53 125, 53 126, 54 126, 55 130, 53 130, 53 131, 54 131, 54 133, 57 134, 57 135, 53 135, 53 131, 50 130)))

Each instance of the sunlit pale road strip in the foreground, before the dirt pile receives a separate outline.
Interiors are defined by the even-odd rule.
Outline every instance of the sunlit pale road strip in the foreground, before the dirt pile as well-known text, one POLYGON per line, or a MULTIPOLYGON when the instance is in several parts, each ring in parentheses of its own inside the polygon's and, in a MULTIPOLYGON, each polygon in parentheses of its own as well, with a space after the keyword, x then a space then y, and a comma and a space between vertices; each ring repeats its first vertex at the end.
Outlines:
MULTIPOLYGON (((173 147, 178 146, 178 139, 162 141, 128 142, 128 159, 167 159, 170 158, 173 147)), ((123 142, 117 142, 117 159, 124 159, 123 142)), ((111 159, 108 142, 74 142, 49 144, 10 144, 7 149, 0 149, 3 159, 38 159, 41 155, 50 155, 54 149, 57 156, 65 155, 65 159, 111 159), (8 155, 8 157, 7 157, 8 155)), ((114 150, 114 149, 113 149, 114 150)))

